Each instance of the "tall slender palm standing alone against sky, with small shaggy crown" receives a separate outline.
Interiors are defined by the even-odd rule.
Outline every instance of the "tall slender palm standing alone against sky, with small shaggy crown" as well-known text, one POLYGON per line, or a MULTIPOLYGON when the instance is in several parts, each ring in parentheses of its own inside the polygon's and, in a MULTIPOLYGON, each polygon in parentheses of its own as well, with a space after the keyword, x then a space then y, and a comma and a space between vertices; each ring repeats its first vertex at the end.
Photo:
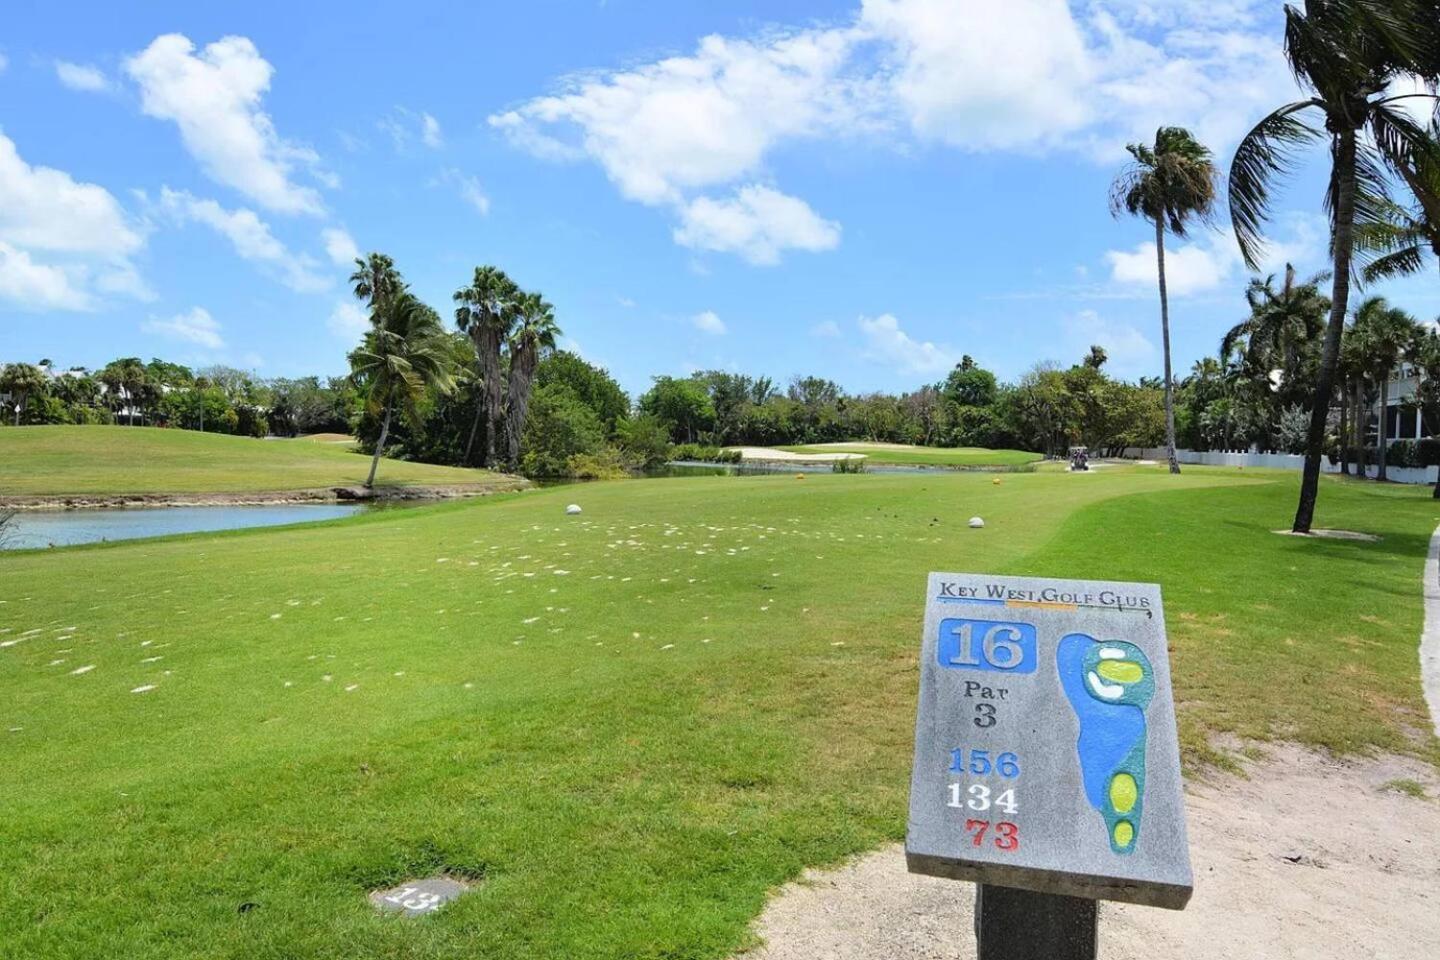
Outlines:
POLYGON ((1185 236, 1189 220, 1208 219, 1215 204, 1220 173, 1207 150, 1182 127, 1161 127, 1155 145, 1126 147, 1133 161, 1110 187, 1110 212, 1120 212, 1155 225, 1155 261, 1161 284, 1161 338, 1165 350, 1165 455, 1171 474, 1179 474, 1175 458, 1175 381, 1169 356, 1169 294, 1165 289, 1165 230, 1185 236))

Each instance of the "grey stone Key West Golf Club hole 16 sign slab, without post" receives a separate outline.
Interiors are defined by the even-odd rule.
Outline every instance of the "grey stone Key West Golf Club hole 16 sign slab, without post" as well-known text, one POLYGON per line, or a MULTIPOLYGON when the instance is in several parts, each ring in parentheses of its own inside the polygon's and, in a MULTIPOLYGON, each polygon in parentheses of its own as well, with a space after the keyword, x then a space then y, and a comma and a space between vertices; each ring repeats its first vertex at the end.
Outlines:
POLYGON ((930 574, 906 861, 916 874, 1185 905, 1158 586, 930 574))

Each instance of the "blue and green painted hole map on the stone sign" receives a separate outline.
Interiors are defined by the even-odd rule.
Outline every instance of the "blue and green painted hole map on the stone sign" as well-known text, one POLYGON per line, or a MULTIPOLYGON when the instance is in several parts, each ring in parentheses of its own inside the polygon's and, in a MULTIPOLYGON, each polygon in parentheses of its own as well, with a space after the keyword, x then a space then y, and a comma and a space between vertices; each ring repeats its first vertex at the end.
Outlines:
POLYGON ((1056 656, 1060 682, 1080 720, 1076 751, 1084 794, 1104 818, 1110 849, 1130 853, 1145 800, 1145 708, 1155 671, 1140 648, 1071 633, 1056 656))

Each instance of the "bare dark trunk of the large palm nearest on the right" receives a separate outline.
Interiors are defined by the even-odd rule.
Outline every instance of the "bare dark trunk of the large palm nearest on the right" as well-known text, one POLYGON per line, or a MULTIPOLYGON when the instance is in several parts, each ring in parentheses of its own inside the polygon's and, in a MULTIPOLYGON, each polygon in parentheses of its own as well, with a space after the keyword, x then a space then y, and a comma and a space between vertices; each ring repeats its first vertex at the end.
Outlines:
POLYGON ((1300 502, 1295 510, 1292 531, 1310 533, 1315 521, 1315 499, 1320 492, 1320 455, 1325 450, 1325 420, 1335 390, 1335 367, 1341 356, 1341 335, 1345 332, 1345 311, 1349 308, 1351 255, 1355 233, 1355 130, 1341 130, 1335 138, 1335 281, 1331 289, 1331 318, 1325 325, 1320 348, 1320 370, 1315 379, 1315 402, 1310 406, 1310 430, 1305 438, 1305 471, 1300 475, 1300 502))

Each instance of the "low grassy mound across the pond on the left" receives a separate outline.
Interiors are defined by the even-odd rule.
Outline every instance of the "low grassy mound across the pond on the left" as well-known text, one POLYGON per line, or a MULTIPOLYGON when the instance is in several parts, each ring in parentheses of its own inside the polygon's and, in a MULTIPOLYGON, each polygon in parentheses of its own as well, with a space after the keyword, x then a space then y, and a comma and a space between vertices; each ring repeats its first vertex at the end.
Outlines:
MULTIPOLYGON (((369 456, 338 443, 125 426, 0 429, 0 497, 291 491, 359 485, 369 471, 369 456)), ((380 486, 494 481, 403 461, 382 461, 376 475, 380 486)))

